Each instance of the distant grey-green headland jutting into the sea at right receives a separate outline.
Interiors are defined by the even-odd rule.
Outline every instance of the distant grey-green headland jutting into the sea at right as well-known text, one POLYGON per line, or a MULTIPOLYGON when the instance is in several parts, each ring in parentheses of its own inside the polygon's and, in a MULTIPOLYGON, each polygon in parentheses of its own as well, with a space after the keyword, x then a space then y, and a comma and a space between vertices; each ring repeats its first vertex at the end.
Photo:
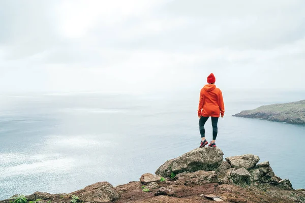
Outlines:
POLYGON ((254 110, 242 111, 233 116, 259 118, 270 121, 305 124, 305 100, 262 106, 254 110))

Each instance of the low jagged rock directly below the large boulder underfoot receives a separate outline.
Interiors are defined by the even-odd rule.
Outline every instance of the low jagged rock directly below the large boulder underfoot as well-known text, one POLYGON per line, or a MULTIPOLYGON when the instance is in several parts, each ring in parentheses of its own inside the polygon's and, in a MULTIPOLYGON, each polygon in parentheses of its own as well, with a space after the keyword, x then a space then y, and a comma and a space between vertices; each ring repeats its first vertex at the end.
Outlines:
POLYGON ((181 173, 176 176, 178 180, 173 182, 176 185, 203 185, 205 183, 217 182, 217 174, 215 171, 197 171, 194 173, 181 173))

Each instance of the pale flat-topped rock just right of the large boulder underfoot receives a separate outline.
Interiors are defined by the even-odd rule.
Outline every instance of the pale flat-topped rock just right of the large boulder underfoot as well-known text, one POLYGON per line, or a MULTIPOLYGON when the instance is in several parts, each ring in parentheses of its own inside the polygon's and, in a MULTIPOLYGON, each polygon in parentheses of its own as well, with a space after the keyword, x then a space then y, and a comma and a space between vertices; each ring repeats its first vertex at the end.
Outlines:
POLYGON ((249 168, 254 167, 259 161, 259 157, 253 154, 245 154, 241 156, 227 157, 226 160, 231 164, 233 168, 249 168))

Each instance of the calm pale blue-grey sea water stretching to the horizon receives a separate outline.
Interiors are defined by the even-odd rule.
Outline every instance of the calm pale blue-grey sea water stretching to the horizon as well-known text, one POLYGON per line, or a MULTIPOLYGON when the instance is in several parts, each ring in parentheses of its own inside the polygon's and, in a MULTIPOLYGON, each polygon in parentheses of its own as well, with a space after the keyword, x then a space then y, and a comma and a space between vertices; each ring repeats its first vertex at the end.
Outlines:
MULTIPOLYGON (((305 126, 231 116, 304 95, 224 93, 217 138, 224 156, 258 155, 294 188, 305 188, 305 126)), ((1 95, 0 199, 68 193, 99 181, 116 186, 154 173, 199 146, 197 96, 1 95)), ((206 131, 211 140, 209 122, 206 131)))

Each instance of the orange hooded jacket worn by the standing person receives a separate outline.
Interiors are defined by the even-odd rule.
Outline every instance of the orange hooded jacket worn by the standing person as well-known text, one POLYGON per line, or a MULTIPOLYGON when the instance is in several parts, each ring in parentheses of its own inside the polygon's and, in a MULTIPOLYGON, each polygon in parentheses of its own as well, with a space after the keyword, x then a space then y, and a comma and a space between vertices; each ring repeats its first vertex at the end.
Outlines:
POLYGON ((215 84, 205 85, 200 91, 198 116, 224 116, 225 105, 222 92, 215 84))

